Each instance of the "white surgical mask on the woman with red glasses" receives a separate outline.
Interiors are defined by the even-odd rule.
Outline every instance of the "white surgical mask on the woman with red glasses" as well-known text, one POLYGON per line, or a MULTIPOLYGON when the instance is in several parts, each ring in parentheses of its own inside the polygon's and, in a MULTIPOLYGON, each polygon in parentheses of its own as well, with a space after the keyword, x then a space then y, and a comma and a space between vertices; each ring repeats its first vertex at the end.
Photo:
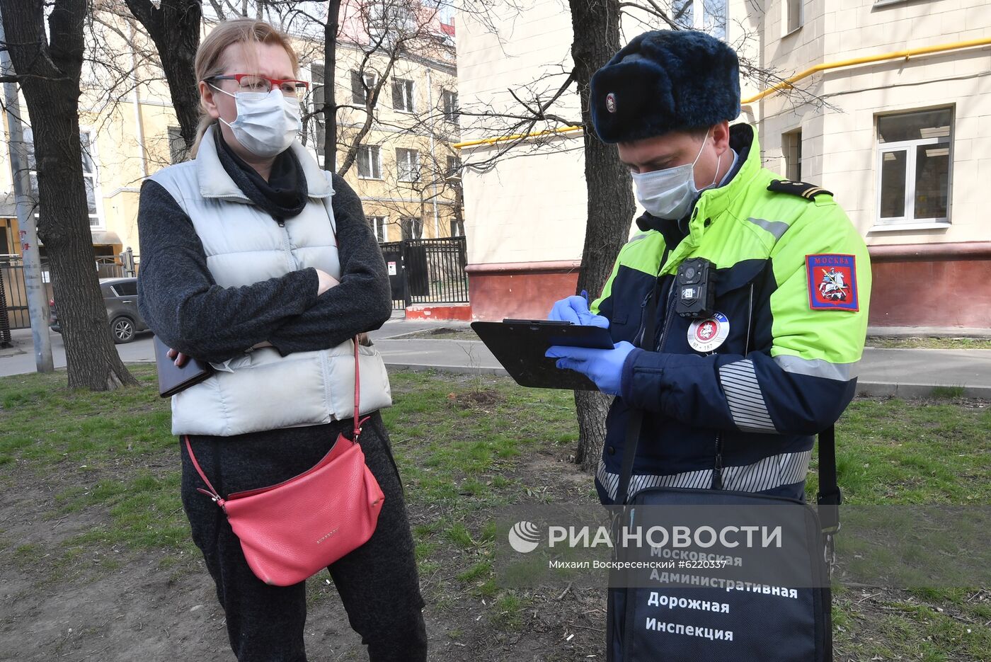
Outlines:
POLYGON ((213 88, 234 97, 238 116, 233 122, 220 121, 231 128, 234 137, 252 154, 271 159, 284 152, 303 128, 299 117, 299 100, 285 96, 281 90, 238 92, 231 94, 216 85, 213 88))

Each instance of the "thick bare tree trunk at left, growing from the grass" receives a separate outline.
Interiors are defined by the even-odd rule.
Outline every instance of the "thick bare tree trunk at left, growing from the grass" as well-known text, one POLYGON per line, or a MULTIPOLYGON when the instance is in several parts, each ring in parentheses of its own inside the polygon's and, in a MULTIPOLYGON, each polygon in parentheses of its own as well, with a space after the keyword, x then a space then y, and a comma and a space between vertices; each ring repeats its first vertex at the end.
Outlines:
POLYGON ((117 354, 93 256, 79 142, 79 73, 86 0, 0 0, 7 50, 28 104, 45 242, 65 342, 68 386, 137 385, 117 354))

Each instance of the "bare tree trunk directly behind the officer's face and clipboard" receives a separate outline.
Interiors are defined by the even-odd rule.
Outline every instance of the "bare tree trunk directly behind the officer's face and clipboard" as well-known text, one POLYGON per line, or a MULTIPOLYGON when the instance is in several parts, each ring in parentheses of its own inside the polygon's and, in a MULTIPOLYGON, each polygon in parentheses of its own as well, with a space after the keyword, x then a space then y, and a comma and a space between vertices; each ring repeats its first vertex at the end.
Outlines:
MULTIPOLYGON (((570 0, 574 42, 571 55, 575 80, 582 99, 585 125, 585 180, 589 193, 589 217, 582 250, 578 291, 598 295, 606 285, 619 249, 629 236, 635 207, 629 170, 619 163, 615 148, 595 135, 589 104, 592 74, 619 50, 618 0, 570 0)), ((578 452, 575 461, 593 471, 606 439, 609 397, 599 391, 575 391, 578 412, 578 452)))

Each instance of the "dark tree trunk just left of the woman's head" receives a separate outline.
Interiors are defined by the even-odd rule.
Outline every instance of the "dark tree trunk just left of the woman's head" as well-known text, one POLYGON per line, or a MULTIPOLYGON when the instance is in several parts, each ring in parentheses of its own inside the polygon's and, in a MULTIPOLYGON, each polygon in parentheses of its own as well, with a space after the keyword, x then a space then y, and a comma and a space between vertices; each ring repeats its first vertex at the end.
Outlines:
POLYGON ((203 19, 200 0, 125 0, 131 14, 145 26, 159 52, 172 108, 186 152, 196 140, 199 123, 199 89, 196 86, 195 59, 203 19))

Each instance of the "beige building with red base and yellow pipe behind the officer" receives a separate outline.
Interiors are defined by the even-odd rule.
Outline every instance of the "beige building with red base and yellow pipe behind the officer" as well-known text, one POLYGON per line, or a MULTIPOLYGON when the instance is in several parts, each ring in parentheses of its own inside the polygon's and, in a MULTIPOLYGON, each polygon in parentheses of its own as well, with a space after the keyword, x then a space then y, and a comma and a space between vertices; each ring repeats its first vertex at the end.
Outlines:
MULTIPOLYGON (((470 110, 511 105, 570 65, 571 21, 529 0, 492 34, 459 26, 459 91, 470 110)), ((984 0, 675 0, 672 16, 737 48, 795 89, 742 81, 737 121, 757 128, 764 164, 834 193, 871 253, 872 325, 987 327, 991 224, 991 5, 984 0), (805 75, 803 75, 805 74, 805 75)), ((567 6, 564 6, 567 9, 567 6)), ((623 41, 656 29, 623 19, 623 41)), ((574 87, 554 111, 577 120, 574 87)), ((552 129, 550 125, 541 127, 552 129)), ((582 132, 513 148, 465 128, 461 146, 472 308, 477 318, 546 313, 574 291, 586 217, 582 132), (511 153, 510 153, 511 154, 511 153)))

